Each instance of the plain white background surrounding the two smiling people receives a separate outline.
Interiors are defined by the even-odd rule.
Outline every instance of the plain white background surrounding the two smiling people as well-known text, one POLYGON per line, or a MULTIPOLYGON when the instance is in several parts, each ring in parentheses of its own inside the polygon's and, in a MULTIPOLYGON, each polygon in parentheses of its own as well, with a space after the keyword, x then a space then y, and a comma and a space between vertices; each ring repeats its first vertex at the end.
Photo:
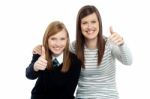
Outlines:
POLYGON ((124 37, 133 64, 117 62, 120 99, 150 99, 149 0, 1 0, 0 1, 0 99, 29 99, 35 80, 25 77, 32 49, 42 43, 47 25, 63 21, 75 39, 78 10, 95 5, 102 16, 104 35, 109 26, 124 37))

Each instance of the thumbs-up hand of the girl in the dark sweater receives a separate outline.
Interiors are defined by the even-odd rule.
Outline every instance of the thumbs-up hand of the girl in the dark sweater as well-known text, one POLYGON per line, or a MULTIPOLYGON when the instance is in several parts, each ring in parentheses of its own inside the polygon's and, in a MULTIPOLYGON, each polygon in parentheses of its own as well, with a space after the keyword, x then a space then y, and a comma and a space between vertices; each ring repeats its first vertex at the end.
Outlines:
POLYGON ((45 70, 46 67, 47 67, 47 60, 46 60, 46 55, 45 55, 45 48, 42 46, 41 56, 35 62, 33 68, 35 71, 39 71, 39 70, 45 70))

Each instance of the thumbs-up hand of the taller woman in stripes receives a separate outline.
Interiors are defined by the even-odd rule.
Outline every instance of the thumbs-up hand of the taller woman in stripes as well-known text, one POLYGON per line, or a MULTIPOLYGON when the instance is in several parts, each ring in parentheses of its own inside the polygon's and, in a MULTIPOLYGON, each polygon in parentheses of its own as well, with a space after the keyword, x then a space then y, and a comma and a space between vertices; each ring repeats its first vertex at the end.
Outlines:
POLYGON ((112 27, 110 27, 111 35, 108 37, 110 41, 112 41, 116 45, 122 45, 124 43, 123 37, 121 37, 118 33, 114 32, 112 27))

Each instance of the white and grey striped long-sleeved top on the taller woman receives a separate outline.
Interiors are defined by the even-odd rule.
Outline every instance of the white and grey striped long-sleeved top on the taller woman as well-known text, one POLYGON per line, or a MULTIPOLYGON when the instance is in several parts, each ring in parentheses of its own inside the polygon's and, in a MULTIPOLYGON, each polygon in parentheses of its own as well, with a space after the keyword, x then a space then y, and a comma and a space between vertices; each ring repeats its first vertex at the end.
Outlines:
MULTIPOLYGON (((75 53, 75 42, 70 46, 75 53)), ((97 66, 97 50, 85 47, 85 69, 81 69, 76 98, 119 99, 115 81, 115 59, 130 65, 132 57, 126 44, 116 46, 107 40, 100 66, 97 66)))

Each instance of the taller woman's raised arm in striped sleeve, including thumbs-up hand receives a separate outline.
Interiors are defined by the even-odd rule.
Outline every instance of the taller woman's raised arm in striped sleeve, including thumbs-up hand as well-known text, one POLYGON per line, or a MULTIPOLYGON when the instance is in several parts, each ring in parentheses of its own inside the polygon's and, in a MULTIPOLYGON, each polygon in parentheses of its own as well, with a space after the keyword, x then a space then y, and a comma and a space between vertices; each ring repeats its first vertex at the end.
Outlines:
POLYGON ((116 57, 122 64, 131 65, 132 56, 129 48, 124 43, 124 39, 118 33, 114 32, 110 27, 110 33, 108 40, 110 41, 112 48, 112 56, 116 57))

